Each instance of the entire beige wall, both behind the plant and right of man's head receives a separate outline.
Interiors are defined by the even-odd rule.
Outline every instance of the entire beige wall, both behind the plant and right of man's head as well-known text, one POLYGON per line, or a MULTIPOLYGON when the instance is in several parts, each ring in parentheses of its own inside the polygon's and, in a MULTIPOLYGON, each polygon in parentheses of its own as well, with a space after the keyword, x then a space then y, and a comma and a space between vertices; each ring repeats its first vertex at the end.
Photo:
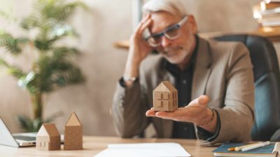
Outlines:
MULTIPOLYGON (((251 7, 259 0, 235 1, 184 1, 189 13, 195 15, 200 32, 209 31, 253 31, 258 24, 253 20, 251 7)), ((73 25, 80 33, 77 45, 83 54, 76 59, 87 77, 85 84, 66 87, 45 96, 44 117, 55 112, 63 116, 55 119, 59 131, 71 111, 83 122, 85 135, 116 135, 109 114, 116 82, 123 73, 127 50, 114 48, 117 40, 128 39, 132 33, 131 0, 87 0, 90 10, 79 10, 73 25)), ((18 17, 28 15, 31 0, 0 0, 0 9, 13 6, 18 17)), ((14 26, 0 21, 0 28, 20 34, 14 26)), ((279 47, 279 45, 276 45, 279 47)), ((280 47, 279 47, 280 48, 280 47)), ((279 49, 278 48, 278 49, 279 49)), ((5 53, 2 56, 8 57, 5 53)), ((9 58, 9 57, 8 57, 9 58)), ((11 60, 27 65, 30 56, 11 60)), ((25 66, 25 69, 28 69, 25 66)), ((0 70, 0 116, 6 121, 13 133, 20 131, 15 116, 25 114, 31 117, 31 106, 26 91, 16 85, 15 79, 0 70)))

